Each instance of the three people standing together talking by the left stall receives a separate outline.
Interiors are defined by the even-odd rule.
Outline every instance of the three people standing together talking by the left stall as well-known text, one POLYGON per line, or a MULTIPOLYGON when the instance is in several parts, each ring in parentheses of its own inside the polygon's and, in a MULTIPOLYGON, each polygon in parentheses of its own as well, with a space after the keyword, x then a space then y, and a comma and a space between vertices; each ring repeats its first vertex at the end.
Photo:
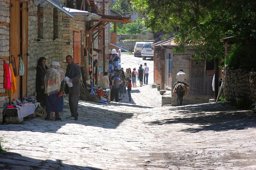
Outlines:
POLYGON ((66 61, 68 65, 65 74, 58 61, 53 61, 48 68, 46 66, 46 58, 41 57, 38 59, 36 67, 36 99, 43 107, 46 107, 47 115, 45 120, 49 120, 51 112, 55 112, 55 120, 61 121, 59 112, 63 111, 64 91, 69 94, 69 108, 71 111, 71 116, 66 118, 78 119, 77 107, 81 71, 80 67, 73 62, 71 55, 66 56, 66 61))

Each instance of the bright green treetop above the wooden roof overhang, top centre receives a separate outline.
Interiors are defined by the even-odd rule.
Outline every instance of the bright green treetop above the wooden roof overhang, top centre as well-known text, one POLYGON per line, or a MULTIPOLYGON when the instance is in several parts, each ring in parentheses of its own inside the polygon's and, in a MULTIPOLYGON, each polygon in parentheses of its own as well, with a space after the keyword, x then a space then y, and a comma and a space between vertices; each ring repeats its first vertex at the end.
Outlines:
POLYGON ((132 13, 131 5, 127 0, 117 0, 112 9, 120 13, 121 15, 129 15, 132 13))

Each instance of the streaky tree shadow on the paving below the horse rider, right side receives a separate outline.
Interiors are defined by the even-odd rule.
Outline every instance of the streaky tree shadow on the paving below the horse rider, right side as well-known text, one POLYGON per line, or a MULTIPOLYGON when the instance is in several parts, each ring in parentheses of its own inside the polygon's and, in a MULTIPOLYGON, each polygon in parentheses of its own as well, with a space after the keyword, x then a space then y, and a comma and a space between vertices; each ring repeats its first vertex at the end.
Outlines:
POLYGON ((225 103, 210 103, 172 107, 168 110, 174 118, 147 122, 149 125, 166 125, 173 123, 197 124, 200 127, 187 128, 184 132, 241 130, 256 127, 256 113, 250 110, 238 110, 225 103), (173 111, 173 112, 170 112, 173 111))

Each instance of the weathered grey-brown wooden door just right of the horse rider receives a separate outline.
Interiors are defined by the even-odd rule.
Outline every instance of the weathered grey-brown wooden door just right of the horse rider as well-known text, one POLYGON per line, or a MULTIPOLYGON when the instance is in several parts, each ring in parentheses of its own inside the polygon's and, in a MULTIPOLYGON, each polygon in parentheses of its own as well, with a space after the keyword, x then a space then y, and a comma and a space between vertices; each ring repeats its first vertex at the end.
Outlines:
POLYGON ((204 95, 204 64, 198 61, 190 61, 190 95, 204 95))

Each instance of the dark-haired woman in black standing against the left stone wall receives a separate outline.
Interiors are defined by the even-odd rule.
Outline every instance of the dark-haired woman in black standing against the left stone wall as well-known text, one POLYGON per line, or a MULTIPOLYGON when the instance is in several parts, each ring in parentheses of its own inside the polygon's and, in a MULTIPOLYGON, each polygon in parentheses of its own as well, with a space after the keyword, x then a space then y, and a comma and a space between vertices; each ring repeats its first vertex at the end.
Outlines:
POLYGON ((36 66, 36 100, 41 106, 45 106, 44 75, 47 69, 46 58, 40 57, 36 66))

